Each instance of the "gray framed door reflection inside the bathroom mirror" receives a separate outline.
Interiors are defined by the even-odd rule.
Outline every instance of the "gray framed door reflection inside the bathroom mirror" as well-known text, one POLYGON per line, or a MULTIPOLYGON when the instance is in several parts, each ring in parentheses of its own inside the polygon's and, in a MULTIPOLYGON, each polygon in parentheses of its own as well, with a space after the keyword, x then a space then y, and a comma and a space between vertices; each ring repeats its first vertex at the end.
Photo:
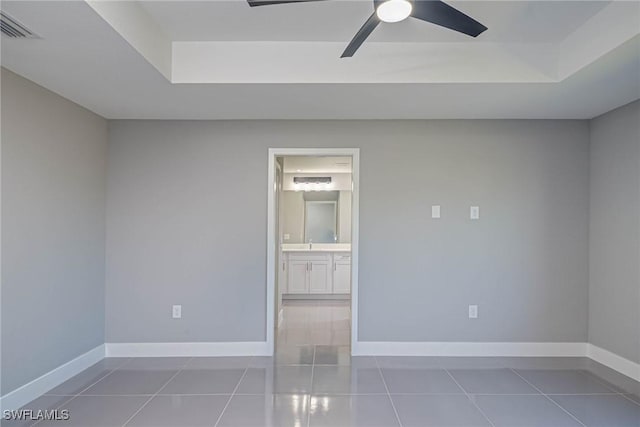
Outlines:
POLYGON ((304 212, 305 243, 335 243, 337 241, 337 201, 306 200, 304 212))

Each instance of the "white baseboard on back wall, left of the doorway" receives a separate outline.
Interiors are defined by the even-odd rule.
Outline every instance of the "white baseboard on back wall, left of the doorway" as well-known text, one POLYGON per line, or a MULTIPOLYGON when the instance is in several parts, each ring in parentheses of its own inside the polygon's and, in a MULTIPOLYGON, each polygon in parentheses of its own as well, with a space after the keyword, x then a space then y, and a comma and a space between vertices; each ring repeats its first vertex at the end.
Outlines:
POLYGON ((269 356, 266 341, 107 343, 107 357, 269 356))

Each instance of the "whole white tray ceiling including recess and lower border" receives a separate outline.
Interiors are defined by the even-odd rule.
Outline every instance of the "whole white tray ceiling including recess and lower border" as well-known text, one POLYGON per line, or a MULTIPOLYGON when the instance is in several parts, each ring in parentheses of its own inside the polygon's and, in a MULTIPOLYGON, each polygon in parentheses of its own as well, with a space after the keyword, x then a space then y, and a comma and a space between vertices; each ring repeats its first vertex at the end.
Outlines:
POLYGON ((368 14, 360 2, 100 3, 3 1, 42 38, 3 37, 2 66, 125 119, 591 118, 640 98, 635 0, 451 2, 494 39, 407 22, 378 28, 351 62, 338 56, 368 14))

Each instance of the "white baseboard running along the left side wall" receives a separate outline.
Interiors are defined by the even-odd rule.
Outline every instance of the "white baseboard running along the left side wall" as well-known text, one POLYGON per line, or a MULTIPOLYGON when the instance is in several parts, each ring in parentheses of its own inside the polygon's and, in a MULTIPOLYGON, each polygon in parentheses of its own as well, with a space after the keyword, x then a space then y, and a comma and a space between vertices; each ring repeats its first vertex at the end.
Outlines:
POLYGON ((75 359, 58 366, 35 380, 18 387, 0 398, 0 410, 16 410, 33 399, 59 386, 105 357, 105 346, 101 344, 75 359))

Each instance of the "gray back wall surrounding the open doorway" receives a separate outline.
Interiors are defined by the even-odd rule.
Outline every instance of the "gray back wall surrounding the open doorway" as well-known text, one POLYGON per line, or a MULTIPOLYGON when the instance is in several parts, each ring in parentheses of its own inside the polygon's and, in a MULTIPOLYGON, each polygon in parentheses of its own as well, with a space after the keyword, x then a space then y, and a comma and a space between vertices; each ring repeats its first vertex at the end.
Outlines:
POLYGON ((267 148, 360 147, 361 340, 584 342, 588 132, 586 121, 110 122, 107 341, 264 340, 267 148))

